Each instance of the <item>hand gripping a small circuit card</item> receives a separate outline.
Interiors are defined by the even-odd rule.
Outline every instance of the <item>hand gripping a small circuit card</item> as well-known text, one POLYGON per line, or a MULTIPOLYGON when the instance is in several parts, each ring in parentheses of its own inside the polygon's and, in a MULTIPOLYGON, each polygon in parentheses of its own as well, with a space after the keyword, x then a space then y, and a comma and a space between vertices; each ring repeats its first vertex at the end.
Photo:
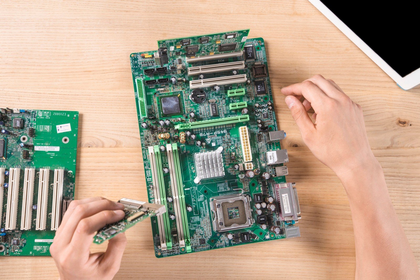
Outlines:
POLYGON ((124 218, 124 205, 103 197, 74 200, 63 217, 50 253, 60 280, 112 279, 120 269, 127 239, 124 233, 108 242, 106 252, 89 251, 98 229, 124 218))

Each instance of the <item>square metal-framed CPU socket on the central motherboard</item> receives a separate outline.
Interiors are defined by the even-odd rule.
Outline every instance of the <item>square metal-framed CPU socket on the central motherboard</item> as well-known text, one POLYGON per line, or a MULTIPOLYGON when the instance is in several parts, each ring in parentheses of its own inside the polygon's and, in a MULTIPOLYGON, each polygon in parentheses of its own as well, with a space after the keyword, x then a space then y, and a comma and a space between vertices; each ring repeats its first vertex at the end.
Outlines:
POLYGON ((215 231, 229 231, 247 228, 254 224, 251 198, 248 195, 213 197, 210 208, 213 213, 213 228, 215 231))

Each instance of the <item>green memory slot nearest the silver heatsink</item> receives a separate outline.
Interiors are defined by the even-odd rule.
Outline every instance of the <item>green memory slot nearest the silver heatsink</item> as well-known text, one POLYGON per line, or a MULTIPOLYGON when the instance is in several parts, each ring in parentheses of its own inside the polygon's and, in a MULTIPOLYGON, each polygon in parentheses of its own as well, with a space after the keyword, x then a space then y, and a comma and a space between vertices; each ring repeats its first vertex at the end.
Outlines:
POLYGON ((178 195, 181 208, 182 225, 185 234, 185 247, 187 252, 191 252, 191 240, 189 239, 188 218, 186 216, 186 205, 184 196, 184 185, 182 184, 181 163, 179 161, 178 145, 172 144, 173 163, 175 165, 176 179, 178 181, 178 195))

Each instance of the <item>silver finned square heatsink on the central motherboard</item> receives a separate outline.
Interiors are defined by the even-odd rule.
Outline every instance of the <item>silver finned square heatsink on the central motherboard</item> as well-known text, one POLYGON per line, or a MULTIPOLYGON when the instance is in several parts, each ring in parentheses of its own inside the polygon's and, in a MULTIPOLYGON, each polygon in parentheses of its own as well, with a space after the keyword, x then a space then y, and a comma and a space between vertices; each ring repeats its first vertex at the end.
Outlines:
POLYGON ((198 184, 202 179, 216 178, 225 176, 222 158, 223 147, 205 153, 195 153, 194 162, 197 177, 194 183, 198 184))

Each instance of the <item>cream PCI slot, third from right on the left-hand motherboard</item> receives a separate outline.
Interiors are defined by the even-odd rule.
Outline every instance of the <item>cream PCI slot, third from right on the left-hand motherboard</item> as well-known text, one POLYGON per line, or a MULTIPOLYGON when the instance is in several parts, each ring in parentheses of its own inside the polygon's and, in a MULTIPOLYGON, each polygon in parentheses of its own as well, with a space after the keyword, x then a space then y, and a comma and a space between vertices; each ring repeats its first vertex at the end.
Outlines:
POLYGON ((21 231, 29 231, 32 225, 32 201, 34 199, 35 169, 25 168, 22 195, 21 231))

